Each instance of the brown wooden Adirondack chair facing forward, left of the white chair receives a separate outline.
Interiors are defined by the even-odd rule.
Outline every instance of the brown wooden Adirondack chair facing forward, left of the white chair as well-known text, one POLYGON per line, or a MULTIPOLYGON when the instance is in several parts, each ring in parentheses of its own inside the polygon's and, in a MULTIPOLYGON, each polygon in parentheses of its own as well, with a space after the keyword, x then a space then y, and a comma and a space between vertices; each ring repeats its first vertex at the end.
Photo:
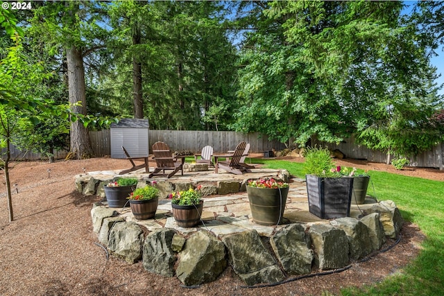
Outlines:
POLYGON ((153 173, 148 175, 148 178, 153 176, 167 176, 168 178, 175 175, 178 171, 182 171, 183 175, 183 165, 182 162, 178 162, 169 146, 164 142, 155 142, 153 145, 153 159, 155 160, 156 167, 153 173), (162 171, 162 173, 160 173, 162 171), (165 171, 172 171, 171 173, 165 173, 165 171))

